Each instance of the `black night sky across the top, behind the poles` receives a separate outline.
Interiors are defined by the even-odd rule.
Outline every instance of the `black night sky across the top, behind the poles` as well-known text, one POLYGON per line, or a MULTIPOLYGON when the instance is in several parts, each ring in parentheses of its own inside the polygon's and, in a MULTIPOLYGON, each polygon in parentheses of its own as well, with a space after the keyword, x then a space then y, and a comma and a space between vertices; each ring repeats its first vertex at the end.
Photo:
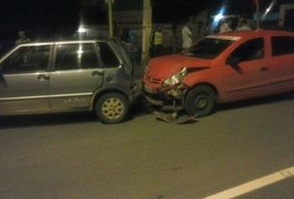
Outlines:
MULTIPOLYGON (((262 8, 271 0, 260 0, 262 8)), ((293 0, 277 0, 293 2, 293 0)), ((141 2, 141 3, 140 3, 141 2)), ((254 0, 153 0, 154 22, 181 22, 197 11, 220 8, 227 2, 230 9, 241 14, 254 11, 254 0)), ((139 0, 114 0, 114 9, 141 7, 139 0), (133 2, 136 3, 133 3, 133 2)), ((140 8, 138 8, 140 9, 140 8)), ((20 29, 45 34, 48 32, 72 31, 79 24, 80 17, 90 22, 107 23, 105 1, 98 0, 93 8, 82 9, 81 0, 1 0, 0 36, 20 29)), ((252 13, 249 15, 251 17, 252 13)))

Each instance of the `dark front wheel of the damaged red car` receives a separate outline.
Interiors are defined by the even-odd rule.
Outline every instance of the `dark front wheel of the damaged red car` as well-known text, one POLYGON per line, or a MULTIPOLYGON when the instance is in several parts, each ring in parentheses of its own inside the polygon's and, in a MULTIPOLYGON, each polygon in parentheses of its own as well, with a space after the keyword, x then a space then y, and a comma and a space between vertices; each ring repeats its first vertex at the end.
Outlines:
POLYGON ((184 109, 189 115, 205 116, 213 112, 215 93, 209 86, 196 86, 191 90, 184 101, 184 109))

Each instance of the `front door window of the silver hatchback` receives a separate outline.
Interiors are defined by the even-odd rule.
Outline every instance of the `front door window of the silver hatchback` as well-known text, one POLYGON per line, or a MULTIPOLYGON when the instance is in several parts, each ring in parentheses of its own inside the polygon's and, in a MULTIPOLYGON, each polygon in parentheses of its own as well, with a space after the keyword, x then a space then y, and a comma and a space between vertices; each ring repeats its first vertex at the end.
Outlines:
POLYGON ((1 63, 3 74, 47 71, 50 45, 22 46, 1 63))

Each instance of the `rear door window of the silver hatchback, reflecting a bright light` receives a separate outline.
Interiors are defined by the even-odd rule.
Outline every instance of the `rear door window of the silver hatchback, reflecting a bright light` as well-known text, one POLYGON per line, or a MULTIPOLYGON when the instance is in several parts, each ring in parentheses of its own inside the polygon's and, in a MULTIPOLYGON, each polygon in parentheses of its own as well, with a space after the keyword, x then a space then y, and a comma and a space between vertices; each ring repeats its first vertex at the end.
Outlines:
POLYGON ((98 67, 98 56, 94 44, 77 43, 57 46, 55 70, 77 70, 98 67))

